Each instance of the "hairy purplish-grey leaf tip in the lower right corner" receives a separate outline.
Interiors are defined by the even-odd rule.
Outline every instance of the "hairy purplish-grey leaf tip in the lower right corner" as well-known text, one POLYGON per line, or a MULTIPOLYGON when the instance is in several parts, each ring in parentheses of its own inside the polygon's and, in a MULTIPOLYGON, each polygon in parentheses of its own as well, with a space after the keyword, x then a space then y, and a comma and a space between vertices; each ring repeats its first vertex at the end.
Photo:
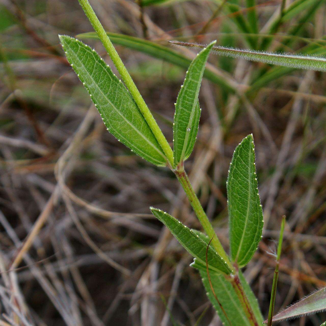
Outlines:
MULTIPOLYGON (((326 309, 326 287, 301 299, 273 317, 273 321, 295 318, 326 309)), ((267 322, 264 321, 265 323, 267 322)))

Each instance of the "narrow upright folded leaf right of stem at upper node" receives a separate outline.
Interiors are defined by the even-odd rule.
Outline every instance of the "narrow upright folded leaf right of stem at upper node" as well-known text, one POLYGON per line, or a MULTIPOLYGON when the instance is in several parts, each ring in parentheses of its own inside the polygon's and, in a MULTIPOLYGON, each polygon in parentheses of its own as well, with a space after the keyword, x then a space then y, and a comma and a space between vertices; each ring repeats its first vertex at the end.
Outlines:
POLYGON ((183 164, 194 148, 200 118, 198 94, 205 64, 215 43, 216 41, 203 49, 191 62, 175 103, 173 120, 173 160, 175 166, 179 163, 183 164))

